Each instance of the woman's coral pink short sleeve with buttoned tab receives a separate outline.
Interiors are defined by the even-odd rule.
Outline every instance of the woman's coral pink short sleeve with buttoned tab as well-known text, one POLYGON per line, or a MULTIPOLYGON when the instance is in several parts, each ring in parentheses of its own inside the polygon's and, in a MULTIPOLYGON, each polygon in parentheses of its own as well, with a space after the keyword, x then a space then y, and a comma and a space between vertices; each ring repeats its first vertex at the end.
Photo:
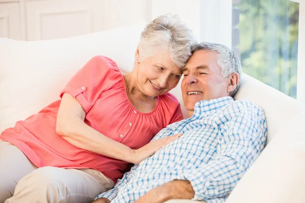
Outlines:
POLYGON ((75 97, 86 113, 93 107, 103 91, 110 89, 120 76, 114 61, 104 56, 90 59, 60 92, 75 97))

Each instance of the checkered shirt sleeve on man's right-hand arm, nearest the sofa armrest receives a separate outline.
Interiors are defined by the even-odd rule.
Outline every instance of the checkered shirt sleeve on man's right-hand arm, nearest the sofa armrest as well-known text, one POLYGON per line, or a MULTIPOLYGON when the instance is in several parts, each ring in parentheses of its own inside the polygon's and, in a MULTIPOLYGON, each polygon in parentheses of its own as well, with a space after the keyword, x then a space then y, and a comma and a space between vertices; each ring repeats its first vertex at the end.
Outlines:
POLYGON ((193 200, 222 202, 263 150, 267 126, 262 110, 257 114, 241 113, 229 120, 224 129, 216 158, 184 172, 185 180, 191 182, 195 191, 193 200))

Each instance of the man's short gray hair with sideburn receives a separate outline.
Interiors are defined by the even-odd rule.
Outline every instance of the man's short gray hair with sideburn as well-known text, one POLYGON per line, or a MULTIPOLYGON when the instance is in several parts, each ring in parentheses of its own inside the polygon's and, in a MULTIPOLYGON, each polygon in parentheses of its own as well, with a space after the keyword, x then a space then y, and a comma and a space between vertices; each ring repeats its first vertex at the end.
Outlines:
POLYGON ((217 56, 217 64, 221 68, 221 73, 223 77, 227 78, 232 73, 238 74, 239 82, 235 90, 230 92, 230 96, 234 97, 240 86, 241 74, 242 74, 240 61, 236 53, 222 44, 207 43, 207 42, 202 42, 200 44, 195 45, 192 48, 192 54, 195 51, 199 51, 199 50, 215 51, 219 53, 217 56))

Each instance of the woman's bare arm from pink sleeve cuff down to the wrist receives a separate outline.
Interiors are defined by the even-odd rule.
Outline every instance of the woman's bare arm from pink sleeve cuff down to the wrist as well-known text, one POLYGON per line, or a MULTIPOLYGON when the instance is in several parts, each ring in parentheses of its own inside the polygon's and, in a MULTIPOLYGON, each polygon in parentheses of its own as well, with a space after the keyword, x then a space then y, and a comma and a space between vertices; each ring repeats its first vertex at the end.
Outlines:
POLYGON ((135 161, 135 150, 116 142, 88 126, 85 110, 78 100, 64 93, 56 118, 56 133, 70 144, 90 152, 130 163, 135 161))

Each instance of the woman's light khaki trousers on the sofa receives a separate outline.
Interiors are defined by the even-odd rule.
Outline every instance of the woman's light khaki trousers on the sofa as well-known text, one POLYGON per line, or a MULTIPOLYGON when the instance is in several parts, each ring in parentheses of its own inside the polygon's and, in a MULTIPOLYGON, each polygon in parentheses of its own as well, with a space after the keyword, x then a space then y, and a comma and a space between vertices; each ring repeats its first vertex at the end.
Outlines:
POLYGON ((16 146, 0 140, 0 203, 91 202, 113 186, 89 168, 37 168, 16 146))

